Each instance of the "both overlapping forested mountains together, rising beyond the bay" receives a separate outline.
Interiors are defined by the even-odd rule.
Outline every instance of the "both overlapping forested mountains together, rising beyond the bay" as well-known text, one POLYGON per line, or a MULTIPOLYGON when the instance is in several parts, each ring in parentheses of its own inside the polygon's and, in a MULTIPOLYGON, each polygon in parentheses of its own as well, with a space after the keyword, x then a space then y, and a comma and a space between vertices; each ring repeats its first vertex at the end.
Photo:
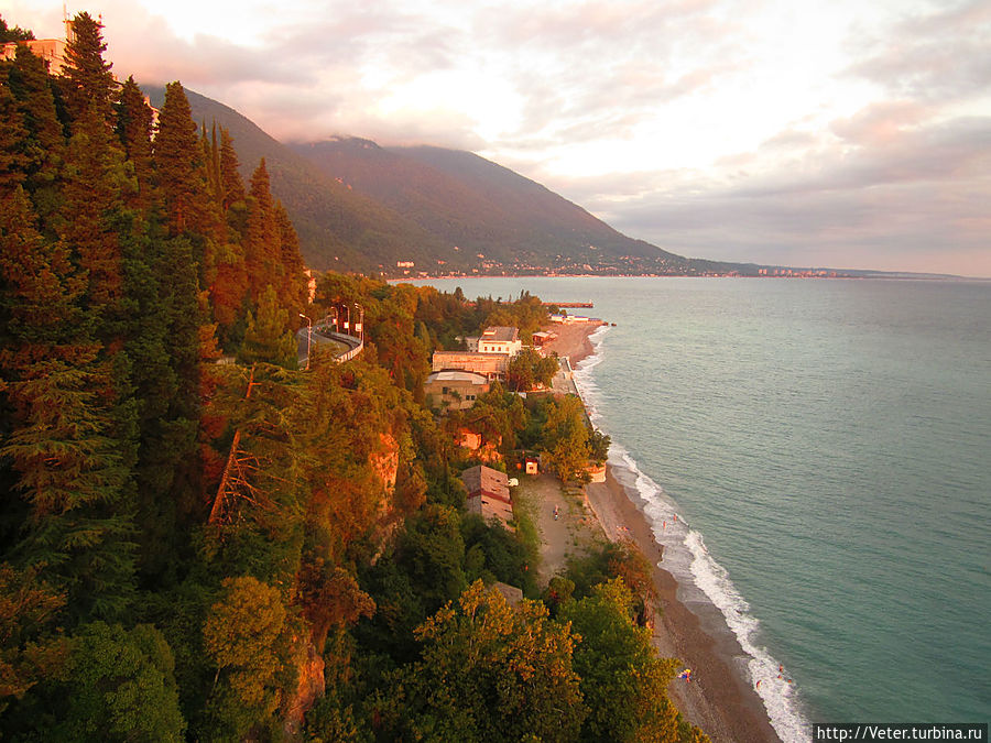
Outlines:
MULTIPOLYGON (((145 86, 161 107, 164 88, 145 86)), ((703 273, 633 240, 544 186, 470 152, 381 147, 357 138, 287 146, 248 118, 186 89, 194 120, 233 138, 246 182, 264 157, 272 193, 313 269, 402 273, 703 273)))

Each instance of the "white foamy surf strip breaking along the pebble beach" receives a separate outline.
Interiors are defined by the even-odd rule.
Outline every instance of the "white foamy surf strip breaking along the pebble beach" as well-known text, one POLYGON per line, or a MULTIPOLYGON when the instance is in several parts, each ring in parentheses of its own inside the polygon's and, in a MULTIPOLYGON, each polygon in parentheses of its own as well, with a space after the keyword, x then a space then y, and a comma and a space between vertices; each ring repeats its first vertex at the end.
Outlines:
MULTIPOLYGON (((608 331, 609 326, 603 325, 589 336, 593 352, 582 359, 574 372, 575 384, 589 418, 606 434, 609 434, 609 426, 598 409, 601 390, 592 370, 602 361, 600 351, 608 331)), ((677 503, 640 469, 620 442, 611 442, 608 461, 617 480, 624 487, 635 489, 643 501, 643 512, 654 538, 664 547, 662 567, 678 581, 678 599, 689 608, 694 602, 715 605, 736 635, 747 654, 738 670, 752 686, 760 681, 756 692, 764 702, 774 731, 784 743, 812 740, 809 722, 801 712, 801 699, 795 685, 789 682, 787 669, 765 646, 758 644, 755 635, 760 630, 760 620, 750 613, 750 604, 733 586, 726 568, 709 555, 703 535, 691 528, 677 503)))

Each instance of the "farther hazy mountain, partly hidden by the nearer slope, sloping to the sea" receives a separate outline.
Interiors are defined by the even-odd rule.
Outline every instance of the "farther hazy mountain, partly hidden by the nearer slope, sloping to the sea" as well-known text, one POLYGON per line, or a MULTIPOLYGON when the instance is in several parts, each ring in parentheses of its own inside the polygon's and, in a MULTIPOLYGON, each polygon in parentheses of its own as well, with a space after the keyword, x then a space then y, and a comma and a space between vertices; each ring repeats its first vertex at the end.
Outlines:
POLYGON ((525 267, 619 265, 687 267, 688 261, 628 238, 544 186, 470 152, 381 147, 335 138, 292 149, 322 172, 374 197, 483 263, 525 267))

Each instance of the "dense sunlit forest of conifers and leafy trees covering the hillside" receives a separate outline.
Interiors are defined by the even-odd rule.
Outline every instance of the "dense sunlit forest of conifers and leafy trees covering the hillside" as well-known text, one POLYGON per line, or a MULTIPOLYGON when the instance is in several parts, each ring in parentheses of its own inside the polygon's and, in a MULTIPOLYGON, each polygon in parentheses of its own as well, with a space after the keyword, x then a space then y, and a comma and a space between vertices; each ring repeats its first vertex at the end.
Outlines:
POLYGON ((570 479, 608 447, 580 402, 423 405, 434 349, 525 337, 540 301, 311 296, 265 162, 243 183, 178 83, 155 117, 105 50, 80 13, 64 74, 0 62, 0 736, 705 740, 665 695, 642 556, 602 544, 542 587, 525 514, 465 510, 460 430, 570 479), (297 369, 305 320, 358 308, 363 351, 297 369))

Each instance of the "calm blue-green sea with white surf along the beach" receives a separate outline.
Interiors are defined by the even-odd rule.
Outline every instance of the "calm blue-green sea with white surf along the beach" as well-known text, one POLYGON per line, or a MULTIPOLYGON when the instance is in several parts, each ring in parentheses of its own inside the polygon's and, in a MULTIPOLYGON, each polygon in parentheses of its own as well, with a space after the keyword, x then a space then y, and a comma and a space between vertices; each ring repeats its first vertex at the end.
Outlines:
POLYGON ((414 283, 593 303, 576 380, 609 460, 783 741, 989 721, 991 282, 414 283))

